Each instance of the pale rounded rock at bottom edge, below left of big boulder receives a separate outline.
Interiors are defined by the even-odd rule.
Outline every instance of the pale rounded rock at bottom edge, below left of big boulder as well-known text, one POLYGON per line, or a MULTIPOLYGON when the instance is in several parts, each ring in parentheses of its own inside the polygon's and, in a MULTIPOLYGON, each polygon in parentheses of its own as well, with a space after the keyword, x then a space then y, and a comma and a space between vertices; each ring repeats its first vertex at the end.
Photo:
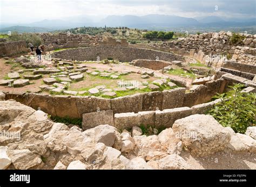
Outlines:
POLYGON ((159 169, 190 169, 190 166, 179 155, 171 154, 159 160, 159 169))

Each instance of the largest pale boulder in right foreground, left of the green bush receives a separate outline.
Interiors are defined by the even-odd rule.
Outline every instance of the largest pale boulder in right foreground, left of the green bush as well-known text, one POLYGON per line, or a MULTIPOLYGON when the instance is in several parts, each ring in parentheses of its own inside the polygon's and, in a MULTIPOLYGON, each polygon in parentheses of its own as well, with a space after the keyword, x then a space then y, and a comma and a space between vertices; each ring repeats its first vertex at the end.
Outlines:
POLYGON ((212 116, 196 114, 176 120, 173 132, 195 156, 206 156, 223 150, 230 133, 212 116))

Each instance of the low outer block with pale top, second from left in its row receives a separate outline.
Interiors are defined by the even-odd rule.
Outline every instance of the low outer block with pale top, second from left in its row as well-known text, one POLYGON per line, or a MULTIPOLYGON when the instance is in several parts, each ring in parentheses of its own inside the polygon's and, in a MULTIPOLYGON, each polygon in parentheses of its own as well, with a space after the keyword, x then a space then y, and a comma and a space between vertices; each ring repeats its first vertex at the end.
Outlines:
POLYGON ((154 126, 155 112, 143 111, 143 112, 127 112, 114 114, 114 126, 118 129, 131 128, 139 125, 151 125, 154 126))

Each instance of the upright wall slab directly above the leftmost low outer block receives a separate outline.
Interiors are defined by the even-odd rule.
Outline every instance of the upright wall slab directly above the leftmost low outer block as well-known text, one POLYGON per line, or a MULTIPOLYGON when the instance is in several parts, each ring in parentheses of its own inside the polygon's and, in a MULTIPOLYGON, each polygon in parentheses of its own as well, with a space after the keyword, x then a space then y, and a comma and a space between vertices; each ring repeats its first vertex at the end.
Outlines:
POLYGON ((111 110, 111 99, 94 96, 76 96, 76 104, 79 118, 83 113, 111 110))

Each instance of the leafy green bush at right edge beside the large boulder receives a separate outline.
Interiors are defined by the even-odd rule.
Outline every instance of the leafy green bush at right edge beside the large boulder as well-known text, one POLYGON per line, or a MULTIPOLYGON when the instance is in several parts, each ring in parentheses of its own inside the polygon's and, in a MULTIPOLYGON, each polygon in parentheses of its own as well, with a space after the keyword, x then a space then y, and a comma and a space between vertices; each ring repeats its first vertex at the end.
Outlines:
POLYGON ((224 127, 231 127, 237 133, 245 133, 248 126, 256 125, 255 93, 241 92, 244 85, 235 84, 231 90, 214 98, 221 99, 208 113, 224 127))

